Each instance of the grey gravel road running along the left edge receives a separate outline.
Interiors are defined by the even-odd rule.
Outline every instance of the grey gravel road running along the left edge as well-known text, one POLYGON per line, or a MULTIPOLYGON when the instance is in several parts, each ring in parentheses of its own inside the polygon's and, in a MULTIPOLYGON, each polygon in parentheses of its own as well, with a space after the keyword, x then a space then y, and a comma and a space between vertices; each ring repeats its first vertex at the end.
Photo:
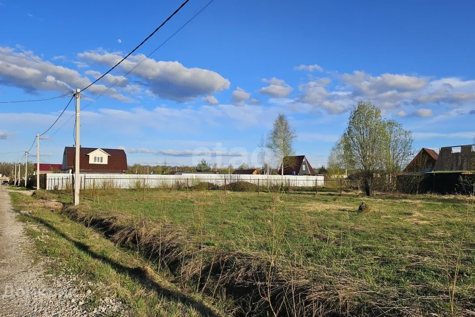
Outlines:
POLYGON ((47 278, 43 266, 35 263, 34 245, 24 234, 25 224, 15 218, 10 197, 0 187, 0 316, 128 316, 124 305, 114 298, 102 298, 90 308, 94 297, 90 284, 76 276, 47 278))

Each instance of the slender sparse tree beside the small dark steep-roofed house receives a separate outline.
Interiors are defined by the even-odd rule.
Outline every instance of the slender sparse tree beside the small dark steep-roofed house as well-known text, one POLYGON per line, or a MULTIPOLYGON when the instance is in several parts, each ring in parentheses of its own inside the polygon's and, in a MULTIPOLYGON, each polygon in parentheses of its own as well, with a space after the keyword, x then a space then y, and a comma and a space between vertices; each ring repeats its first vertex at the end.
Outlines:
POLYGON ((294 153, 292 143, 295 138, 295 130, 290 126, 285 114, 279 113, 269 134, 269 148, 280 162, 282 175, 284 175, 284 158, 294 153))

